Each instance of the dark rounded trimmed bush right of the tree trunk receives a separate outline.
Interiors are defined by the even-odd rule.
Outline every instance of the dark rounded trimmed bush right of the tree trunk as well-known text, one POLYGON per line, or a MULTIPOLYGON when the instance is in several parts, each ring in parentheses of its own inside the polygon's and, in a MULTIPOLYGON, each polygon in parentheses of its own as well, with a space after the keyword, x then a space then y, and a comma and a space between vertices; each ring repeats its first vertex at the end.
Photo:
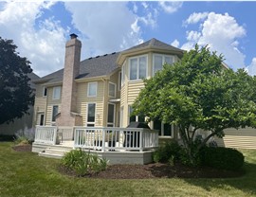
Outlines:
POLYGON ((243 153, 224 147, 205 147, 201 156, 204 166, 221 170, 239 170, 245 162, 243 153))

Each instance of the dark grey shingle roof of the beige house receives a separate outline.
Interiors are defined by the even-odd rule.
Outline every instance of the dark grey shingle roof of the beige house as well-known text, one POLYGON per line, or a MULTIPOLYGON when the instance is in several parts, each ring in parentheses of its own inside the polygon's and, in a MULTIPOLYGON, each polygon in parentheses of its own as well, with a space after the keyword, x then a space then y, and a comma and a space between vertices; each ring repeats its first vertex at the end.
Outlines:
MULTIPOLYGON (((97 57, 89 58, 82 61, 80 63, 80 75, 77 76, 76 79, 93 78, 93 77, 110 75, 113 71, 119 68, 117 60, 120 54, 130 50, 143 49, 145 47, 150 47, 150 46, 162 48, 166 50, 172 50, 177 53, 183 53, 183 50, 176 48, 173 45, 167 45, 153 38, 145 43, 133 46, 127 50, 124 50, 118 53, 115 52, 112 54, 105 54, 103 56, 97 56, 97 57)), ((62 82, 63 77, 64 77, 64 69, 61 69, 54 73, 46 75, 40 80, 34 81, 34 82, 35 83, 46 82, 48 84, 57 83, 57 82, 62 82)))

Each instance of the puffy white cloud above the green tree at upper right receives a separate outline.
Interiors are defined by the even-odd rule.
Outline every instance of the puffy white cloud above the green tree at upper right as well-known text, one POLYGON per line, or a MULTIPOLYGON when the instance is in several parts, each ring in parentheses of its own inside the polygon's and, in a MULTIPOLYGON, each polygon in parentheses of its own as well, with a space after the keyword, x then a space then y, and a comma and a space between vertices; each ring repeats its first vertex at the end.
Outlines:
POLYGON ((210 50, 222 53, 225 56, 225 62, 236 70, 245 67, 245 55, 239 50, 238 42, 238 39, 245 35, 246 29, 239 26, 228 13, 210 12, 206 20, 200 24, 198 31, 187 32, 188 42, 182 45, 182 48, 189 50, 196 43, 209 45, 210 50))

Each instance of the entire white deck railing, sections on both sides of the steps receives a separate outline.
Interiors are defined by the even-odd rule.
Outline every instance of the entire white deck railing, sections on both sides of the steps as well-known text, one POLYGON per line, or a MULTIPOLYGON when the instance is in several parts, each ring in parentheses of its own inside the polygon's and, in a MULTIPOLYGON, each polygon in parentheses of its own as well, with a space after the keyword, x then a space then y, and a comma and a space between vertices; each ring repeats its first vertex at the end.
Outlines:
POLYGON ((158 132, 142 128, 37 126, 35 142, 55 145, 73 140, 74 148, 105 151, 140 151, 158 147, 158 132))

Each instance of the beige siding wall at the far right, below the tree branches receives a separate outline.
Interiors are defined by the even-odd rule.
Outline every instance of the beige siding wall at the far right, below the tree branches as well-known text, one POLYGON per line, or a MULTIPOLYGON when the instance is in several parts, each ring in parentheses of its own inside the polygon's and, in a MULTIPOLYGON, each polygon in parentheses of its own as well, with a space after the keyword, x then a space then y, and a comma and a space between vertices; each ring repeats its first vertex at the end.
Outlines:
POLYGON ((256 129, 247 127, 245 129, 227 129, 224 138, 214 138, 218 146, 256 149, 256 129))

